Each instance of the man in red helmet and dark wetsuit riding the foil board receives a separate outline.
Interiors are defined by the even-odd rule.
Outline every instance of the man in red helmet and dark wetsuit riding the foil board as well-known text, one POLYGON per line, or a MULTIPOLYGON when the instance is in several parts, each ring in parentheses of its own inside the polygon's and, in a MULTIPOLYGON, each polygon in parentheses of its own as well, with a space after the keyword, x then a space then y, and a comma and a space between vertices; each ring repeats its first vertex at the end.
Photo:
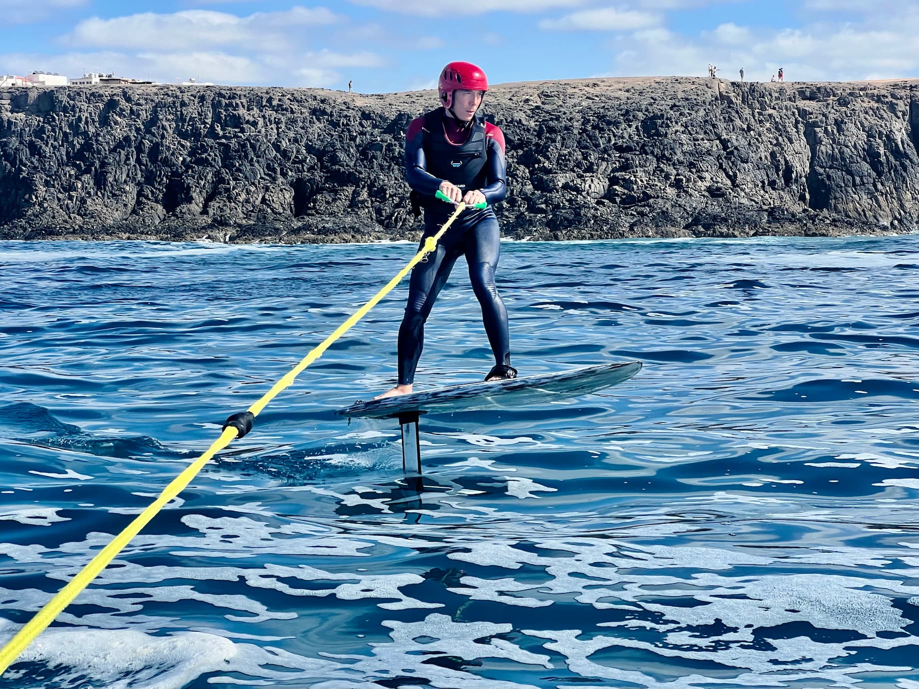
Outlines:
POLYGON ((425 321, 444 287, 453 264, 466 256, 472 291, 482 306, 482 322, 494 353, 494 367, 485 380, 516 378, 511 364, 510 333, 505 303, 494 286, 501 253, 501 231, 492 206, 507 190, 505 135, 482 117, 488 79, 470 62, 450 62, 440 72, 437 95, 441 107, 412 120, 405 134, 405 178, 412 187, 415 215, 425 212, 425 238, 436 234, 460 201, 467 204, 424 262, 415 265, 408 303, 399 327, 399 378, 378 395, 393 397, 412 391, 415 368, 425 341, 425 321), (435 198, 440 191, 450 202, 435 198), (471 208, 486 202, 484 209, 471 208))

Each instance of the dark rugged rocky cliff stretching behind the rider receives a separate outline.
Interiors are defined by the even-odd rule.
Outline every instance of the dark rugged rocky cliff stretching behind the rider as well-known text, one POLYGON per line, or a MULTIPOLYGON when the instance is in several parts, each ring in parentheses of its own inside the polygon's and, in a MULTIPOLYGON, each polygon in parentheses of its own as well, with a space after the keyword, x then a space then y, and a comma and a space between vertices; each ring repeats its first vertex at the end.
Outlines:
MULTIPOLYGON (((0 238, 417 236, 403 138, 431 91, 0 92, 0 238)), ((505 234, 912 232, 919 82, 586 79, 498 85, 505 234)))

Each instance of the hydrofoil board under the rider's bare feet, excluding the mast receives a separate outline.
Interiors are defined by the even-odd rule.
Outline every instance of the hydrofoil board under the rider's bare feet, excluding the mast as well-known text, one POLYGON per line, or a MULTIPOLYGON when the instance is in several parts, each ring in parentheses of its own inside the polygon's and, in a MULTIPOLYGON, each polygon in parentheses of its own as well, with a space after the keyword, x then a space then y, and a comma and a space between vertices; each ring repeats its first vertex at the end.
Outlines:
POLYGON ((568 400, 621 383, 641 370, 641 363, 601 364, 538 376, 464 383, 423 390, 384 400, 357 401, 336 414, 349 418, 388 419, 409 413, 471 412, 520 409, 568 400))

